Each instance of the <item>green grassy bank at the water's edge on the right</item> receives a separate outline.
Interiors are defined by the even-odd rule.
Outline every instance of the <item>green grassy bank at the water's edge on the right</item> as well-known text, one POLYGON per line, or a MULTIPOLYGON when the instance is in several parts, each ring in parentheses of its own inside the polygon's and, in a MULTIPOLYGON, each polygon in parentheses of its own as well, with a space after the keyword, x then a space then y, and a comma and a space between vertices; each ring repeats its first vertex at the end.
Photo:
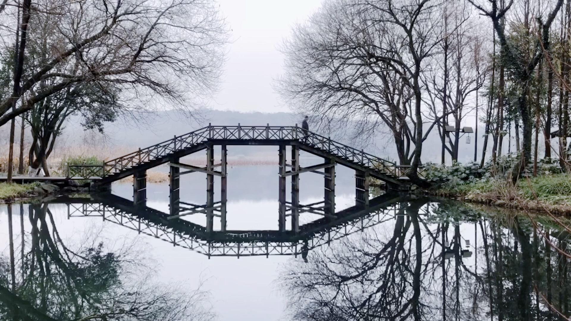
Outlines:
POLYGON ((571 216, 571 175, 565 173, 522 178, 515 185, 506 179, 482 178, 441 184, 425 192, 468 202, 571 216))

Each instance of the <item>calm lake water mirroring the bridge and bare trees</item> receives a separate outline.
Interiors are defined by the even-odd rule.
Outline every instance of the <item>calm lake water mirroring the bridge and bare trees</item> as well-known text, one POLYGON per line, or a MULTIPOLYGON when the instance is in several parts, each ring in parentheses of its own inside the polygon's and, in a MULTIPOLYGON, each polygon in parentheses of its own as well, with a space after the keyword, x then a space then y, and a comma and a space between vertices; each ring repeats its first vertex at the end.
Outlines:
MULTIPOLYGON (((277 172, 229 168, 228 230, 277 230, 277 172)), ((205 202, 204 176, 182 176, 184 202, 205 202)), ((337 168, 337 211, 355 205, 354 180, 354 172, 337 168)), ((0 205, 0 319, 72 320, 104 311, 112 320, 118 306, 141 320, 557 320, 553 309, 569 316, 569 232, 553 219, 395 196, 359 215, 345 212, 343 222, 330 219, 337 223, 297 246, 230 242, 212 250, 172 232, 204 225, 203 214, 178 225, 150 223, 153 211, 169 211, 168 184, 147 188, 148 208, 139 212, 128 202, 55 200, 14 204, 9 215, 0 205), (203 254, 223 250, 297 255, 203 254), (184 304, 191 314, 180 311, 184 304)), ((112 192, 132 200, 130 184, 114 184, 112 192)), ((323 178, 301 175, 300 203, 320 200, 323 178)), ((322 218, 303 213, 300 224, 322 218)))

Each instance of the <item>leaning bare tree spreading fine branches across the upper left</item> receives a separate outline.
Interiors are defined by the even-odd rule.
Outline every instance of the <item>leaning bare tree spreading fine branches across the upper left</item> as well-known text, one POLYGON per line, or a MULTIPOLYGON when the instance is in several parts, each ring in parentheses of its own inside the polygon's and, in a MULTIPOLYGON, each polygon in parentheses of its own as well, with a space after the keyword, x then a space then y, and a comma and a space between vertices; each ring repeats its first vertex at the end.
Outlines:
MULTIPOLYGON (((11 51, 19 6, 7 4, 0 39, 4 50, 11 51)), ((23 38, 19 42, 15 90, 0 97, 0 126, 80 82, 106 83, 123 90, 130 107, 137 99, 160 95, 169 102, 186 103, 180 106, 188 110, 216 87, 227 37, 211 0, 45 0, 29 9, 25 2, 23 9, 29 10, 22 17, 29 19, 25 25, 30 30, 48 28, 43 31, 50 33, 49 54, 31 59, 26 42, 23 38), (49 86, 39 87, 48 80, 49 86), (23 103, 10 110, 21 97, 23 103)), ((39 43, 41 35, 30 32, 27 41, 39 43)))

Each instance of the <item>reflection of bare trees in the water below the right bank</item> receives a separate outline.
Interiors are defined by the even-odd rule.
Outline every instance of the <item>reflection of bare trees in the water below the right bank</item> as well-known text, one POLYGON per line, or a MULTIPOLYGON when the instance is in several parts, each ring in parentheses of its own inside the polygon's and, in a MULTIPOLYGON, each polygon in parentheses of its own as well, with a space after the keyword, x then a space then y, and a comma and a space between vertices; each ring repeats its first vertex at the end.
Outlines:
MULTIPOLYGON (((283 267, 294 320, 566 320, 569 231, 457 202, 401 214, 283 267), (545 237, 544 237, 545 236, 545 237), (556 250, 556 248, 560 250, 556 250)), ((423 207, 424 206, 424 207, 423 207)), ((569 226, 568 223, 565 223, 569 226)))

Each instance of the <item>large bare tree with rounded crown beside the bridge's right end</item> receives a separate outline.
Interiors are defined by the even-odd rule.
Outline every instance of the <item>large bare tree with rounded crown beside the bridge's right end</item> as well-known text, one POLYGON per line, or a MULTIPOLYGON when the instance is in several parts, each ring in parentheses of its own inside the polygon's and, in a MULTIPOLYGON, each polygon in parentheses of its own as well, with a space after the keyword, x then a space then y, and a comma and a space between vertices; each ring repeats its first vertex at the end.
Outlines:
POLYGON ((326 119, 380 118, 419 182, 426 138, 421 72, 441 39, 440 14, 440 3, 429 0, 324 3, 284 46, 282 95, 326 119))

